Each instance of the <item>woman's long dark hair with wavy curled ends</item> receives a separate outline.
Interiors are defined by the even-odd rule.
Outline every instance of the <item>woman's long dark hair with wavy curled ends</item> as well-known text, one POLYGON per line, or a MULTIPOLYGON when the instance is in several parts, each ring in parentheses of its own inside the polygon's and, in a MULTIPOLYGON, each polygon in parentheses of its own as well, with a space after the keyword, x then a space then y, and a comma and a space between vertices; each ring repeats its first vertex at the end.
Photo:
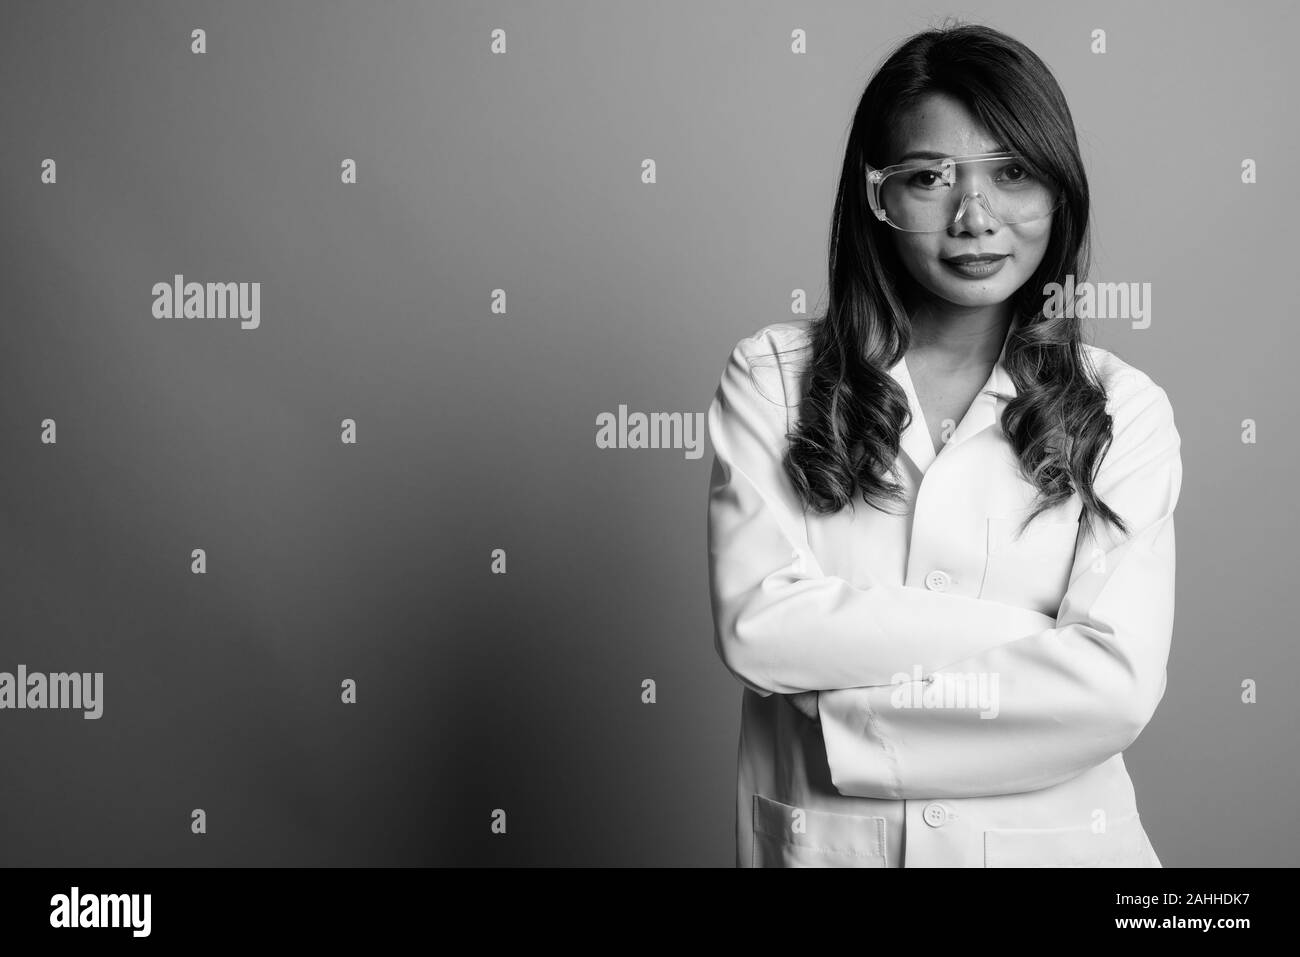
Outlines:
POLYGON ((906 352, 911 321, 902 293, 915 281, 866 194, 866 164, 884 166, 888 133, 932 92, 949 94, 1008 150, 1063 192, 1043 263, 1011 296, 1006 369, 1018 394, 1002 429, 1037 489, 1026 525, 1078 492, 1080 523, 1127 525, 1093 493, 1112 439, 1106 394, 1083 351, 1075 316, 1044 313, 1041 290, 1088 272, 1088 181, 1074 120, 1056 78, 1023 43, 985 26, 945 25, 902 43, 867 83, 845 150, 829 241, 829 300, 812 320, 798 429, 783 465, 806 508, 835 512, 859 492, 875 508, 905 502, 892 480, 911 411, 888 369, 906 352), (852 439, 852 443, 850 443, 852 439))

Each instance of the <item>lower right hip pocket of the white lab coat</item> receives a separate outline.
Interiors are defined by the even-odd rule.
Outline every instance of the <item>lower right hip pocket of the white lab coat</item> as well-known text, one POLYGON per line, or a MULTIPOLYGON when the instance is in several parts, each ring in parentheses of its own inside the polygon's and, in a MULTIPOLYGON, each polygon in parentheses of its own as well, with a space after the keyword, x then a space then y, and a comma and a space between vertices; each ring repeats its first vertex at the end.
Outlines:
POLYGON ((1009 827, 984 831, 985 867, 1160 867, 1138 814, 1104 831, 1009 827))

